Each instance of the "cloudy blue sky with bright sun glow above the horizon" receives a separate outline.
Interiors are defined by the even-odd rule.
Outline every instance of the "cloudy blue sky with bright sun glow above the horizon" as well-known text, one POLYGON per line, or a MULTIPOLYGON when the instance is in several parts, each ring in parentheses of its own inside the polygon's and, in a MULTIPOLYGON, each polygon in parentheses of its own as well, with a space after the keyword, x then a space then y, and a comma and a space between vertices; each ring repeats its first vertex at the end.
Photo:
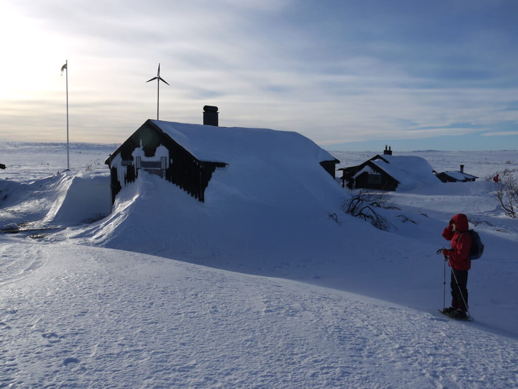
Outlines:
POLYGON ((7 0, 0 141, 122 143, 147 119, 328 150, 518 149, 518 3, 7 0), (68 61, 63 75, 61 67, 68 61))

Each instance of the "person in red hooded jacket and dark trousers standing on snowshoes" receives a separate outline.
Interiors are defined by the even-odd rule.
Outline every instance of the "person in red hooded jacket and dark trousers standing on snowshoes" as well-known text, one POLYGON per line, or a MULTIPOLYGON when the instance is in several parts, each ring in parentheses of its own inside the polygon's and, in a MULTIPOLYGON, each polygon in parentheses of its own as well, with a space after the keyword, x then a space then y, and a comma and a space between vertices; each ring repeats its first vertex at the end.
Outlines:
POLYGON ((459 318, 467 317, 468 310, 468 270, 471 269, 471 259, 468 258, 471 237, 468 230, 468 217, 459 213, 452 217, 449 226, 442 231, 444 239, 451 241, 451 249, 444 248, 442 254, 449 258, 448 266, 452 268, 452 305, 445 308, 444 312, 459 318))

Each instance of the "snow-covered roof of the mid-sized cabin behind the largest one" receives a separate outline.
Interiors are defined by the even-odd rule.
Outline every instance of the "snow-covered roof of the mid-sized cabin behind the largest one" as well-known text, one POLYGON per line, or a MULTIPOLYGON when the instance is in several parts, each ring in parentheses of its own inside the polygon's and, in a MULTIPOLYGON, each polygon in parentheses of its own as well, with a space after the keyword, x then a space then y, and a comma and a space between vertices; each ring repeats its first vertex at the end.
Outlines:
POLYGON ((426 159, 421 157, 384 155, 372 159, 371 162, 397 179, 399 181, 397 188, 401 190, 440 183, 433 173, 434 169, 426 159))

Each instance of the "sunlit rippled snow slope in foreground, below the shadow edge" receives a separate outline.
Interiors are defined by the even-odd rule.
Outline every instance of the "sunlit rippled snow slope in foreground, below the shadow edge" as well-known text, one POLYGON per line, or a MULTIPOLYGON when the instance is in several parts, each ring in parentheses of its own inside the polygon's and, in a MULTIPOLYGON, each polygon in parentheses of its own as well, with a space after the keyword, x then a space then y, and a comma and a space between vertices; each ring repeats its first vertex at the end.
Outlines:
POLYGON ((517 382, 515 340, 439 313, 135 253, 7 247, 19 253, 24 279, 2 287, 0 387, 517 382))

